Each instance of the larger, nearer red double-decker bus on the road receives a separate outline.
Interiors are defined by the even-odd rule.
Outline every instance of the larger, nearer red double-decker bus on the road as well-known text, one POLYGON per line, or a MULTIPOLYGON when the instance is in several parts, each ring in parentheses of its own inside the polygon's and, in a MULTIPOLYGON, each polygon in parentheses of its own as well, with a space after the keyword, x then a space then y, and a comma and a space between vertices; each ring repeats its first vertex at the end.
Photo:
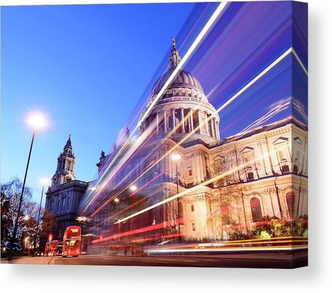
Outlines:
POLYGON ((78 257, 81 253, 81 227, 67 227, 62 242, 62 257, 78 257))

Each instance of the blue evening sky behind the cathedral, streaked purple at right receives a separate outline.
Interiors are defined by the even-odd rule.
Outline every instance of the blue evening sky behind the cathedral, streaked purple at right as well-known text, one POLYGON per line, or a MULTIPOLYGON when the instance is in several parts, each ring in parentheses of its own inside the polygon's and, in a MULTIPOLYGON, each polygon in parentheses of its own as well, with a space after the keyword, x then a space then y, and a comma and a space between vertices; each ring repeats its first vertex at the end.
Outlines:
MULTIPOLYGON (((1 7, 1 182, 23 179, 31 130, 24 115, 42 110, 27 186, 40 196, 71 134, 75 176, 90 181, 100 151, 133 129, 152 85, 167 67, 171 37, 183 56, 218 3, 1 7)), ((308 40, 291 3, 227 6, 184 69, 218 108, 288 48, 308 69, 308 40), (293 35, 293 43, 292 36, 293 35)), ((306 13, 306 12, 304 12, 306 13)), ((277 105, 297 100, 308 113, 308 76, 287 56, 219 114, 221 137, 236 134, 277 105), (292 87, 292 80, 296 86, 292 87)), ((291 114, 289 106, 264 123, 291 114)), ((296 110, 293 115, 306 122, 296 110)))

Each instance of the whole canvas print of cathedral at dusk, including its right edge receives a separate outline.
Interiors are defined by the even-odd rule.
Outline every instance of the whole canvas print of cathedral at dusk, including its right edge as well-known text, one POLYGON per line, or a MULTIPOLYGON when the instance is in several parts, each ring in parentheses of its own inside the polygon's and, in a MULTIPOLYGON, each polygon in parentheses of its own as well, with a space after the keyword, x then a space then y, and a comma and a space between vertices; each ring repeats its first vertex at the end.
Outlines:
POLYGON ((308 4, 1 7, 1 264, 308 265, 308 4))

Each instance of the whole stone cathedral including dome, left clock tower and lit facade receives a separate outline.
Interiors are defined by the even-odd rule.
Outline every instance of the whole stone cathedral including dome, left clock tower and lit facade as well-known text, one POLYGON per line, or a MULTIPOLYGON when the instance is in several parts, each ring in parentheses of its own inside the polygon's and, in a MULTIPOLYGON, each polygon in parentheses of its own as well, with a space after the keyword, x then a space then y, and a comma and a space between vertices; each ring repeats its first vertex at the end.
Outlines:
POLYGON ((47 191, 55 234, 84 215, 92 253, 119 243, 133 252, 131 243, 227 239, 235 228, 250 233, 266 216, 308 215, 307 125, 287 117, 221 139, 218 112, 180 60, 173 42, 169 70, 141 113, 139 138, 128 130, 113 152, 102 152, 93 182, 74 177, 68 140, 47 191))

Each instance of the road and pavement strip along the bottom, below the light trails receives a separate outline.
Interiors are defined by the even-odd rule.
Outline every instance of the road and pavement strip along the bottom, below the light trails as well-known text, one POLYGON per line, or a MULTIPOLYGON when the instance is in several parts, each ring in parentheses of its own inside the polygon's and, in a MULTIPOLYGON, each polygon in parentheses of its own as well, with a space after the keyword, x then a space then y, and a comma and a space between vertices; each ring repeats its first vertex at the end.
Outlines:
POLYGON ((111 256, 80 255, 76 258, 34 257, 2 263, 98 266, 154 266, 154 267, 221 267, 221 268, 279 268, 290 269, 308 265, 308 251, 297 252, 296 259, 286 253, 246 253, 218 256, 111 256))

